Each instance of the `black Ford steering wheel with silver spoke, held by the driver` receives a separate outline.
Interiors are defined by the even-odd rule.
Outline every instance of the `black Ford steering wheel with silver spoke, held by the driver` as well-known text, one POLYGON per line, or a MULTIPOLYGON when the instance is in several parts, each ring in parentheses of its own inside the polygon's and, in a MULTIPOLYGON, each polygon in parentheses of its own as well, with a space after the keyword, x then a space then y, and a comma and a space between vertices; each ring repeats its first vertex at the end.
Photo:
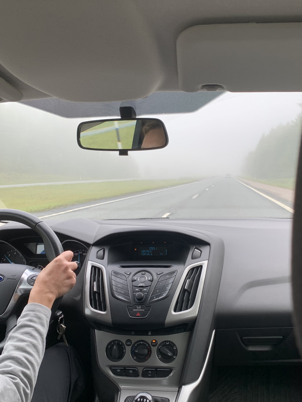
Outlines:
MULTIPOLYGON (((31 213, 17 209, 0 209, 0 220, 19 222, 35 230, 43 239, 45 254, 49 261, 52 261, 63 252, 62 244, 55 232, 45 222, 31 215, 31 213)), ((12 316, 17 300, 21 295, 31 291, 34 283, 31 278, 38 274, 37 269, 28 265, 0 264, 0 322, 6 322, 7 336, 8 332, 10 332, 9 328, 13 328, 13 324, 16 322, 16 318, 14 318, 13 322, 9 322, 9 318, 12 316)), ((55 300, 52 306, 52 316, 56 312, 61 299, 62 297, 55 300)), ((0 343, 0 352, 4 341, 0 343)))

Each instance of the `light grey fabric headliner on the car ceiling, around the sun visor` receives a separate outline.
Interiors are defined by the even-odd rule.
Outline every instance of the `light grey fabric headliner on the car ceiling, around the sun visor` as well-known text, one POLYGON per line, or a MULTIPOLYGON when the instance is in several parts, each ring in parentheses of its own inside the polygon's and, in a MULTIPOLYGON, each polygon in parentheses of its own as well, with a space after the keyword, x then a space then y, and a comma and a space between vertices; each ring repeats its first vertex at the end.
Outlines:
MULTIPOLYGON (((3 99, 54 97, 99 103, 179 92, 176 40, 184 30, 196 25, 301 21, 301 0, 3 0, 0 77, 20 91, 15 98, 3 99)), ((0 81, 0 98, 1 85, 0 81)), ((32 106, 47 110, 45 105, 32 106)))

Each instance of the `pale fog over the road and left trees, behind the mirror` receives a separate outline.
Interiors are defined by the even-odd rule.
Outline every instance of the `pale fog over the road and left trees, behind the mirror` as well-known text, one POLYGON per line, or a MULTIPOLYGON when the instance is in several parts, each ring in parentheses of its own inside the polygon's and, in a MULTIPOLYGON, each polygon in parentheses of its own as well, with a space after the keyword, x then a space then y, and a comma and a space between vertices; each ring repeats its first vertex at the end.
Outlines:
POLYGON ((62 180, 241 174, 261 136, 295 119, 301 103, 301 93, 227 93, 194 113, 153 115, 166 125, 168 146, 129 156, 79 148, 77 125, 83 119, 3 103, 0 174, 8 181, 10 172, 39 174, 45 181, 52 181, 51 174, 62 180))

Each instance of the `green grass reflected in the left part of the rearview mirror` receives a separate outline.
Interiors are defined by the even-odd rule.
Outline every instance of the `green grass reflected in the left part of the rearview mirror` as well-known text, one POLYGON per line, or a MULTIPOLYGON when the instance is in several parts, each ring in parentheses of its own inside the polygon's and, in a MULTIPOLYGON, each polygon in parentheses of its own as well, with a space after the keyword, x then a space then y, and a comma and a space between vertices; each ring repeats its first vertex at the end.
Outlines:
MULTIPOLYGON (((130 121, 132 123, 132 121, 130 121)), ((127 121, 123 121, 123 123, 127 123, 127 121)), ((113 121, 108 121, 102 123, 97 126, 99 128, 113 127, 113 121)), ((89 133, 89 131, 95 130, 96 127, 91 127, 85 131, 85 133, 89 133)), ((134 135, 135 125, 129 127, 120 127, 118 129, 120 135, 120 142, 122 143, 122 149, 131 149, 132 141, 134 135)), ((81 135, 81 144, 86 148, 96 148, 96 149, 118 149, 118 139, 116 135, 115 129, 112 131, 106 131, 104 133, 97 133, 94 135, 81 135)))

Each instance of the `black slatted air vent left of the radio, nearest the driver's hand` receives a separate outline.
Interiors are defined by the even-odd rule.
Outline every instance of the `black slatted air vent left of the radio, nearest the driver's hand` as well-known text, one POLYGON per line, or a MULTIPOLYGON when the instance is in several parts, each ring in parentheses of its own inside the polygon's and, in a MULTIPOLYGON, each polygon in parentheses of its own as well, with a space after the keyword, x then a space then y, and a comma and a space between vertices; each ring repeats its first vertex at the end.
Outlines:
POLYGON ((89 301, 94 310, 106 311, 104 277, 100 267, 91 267, 89 301))

